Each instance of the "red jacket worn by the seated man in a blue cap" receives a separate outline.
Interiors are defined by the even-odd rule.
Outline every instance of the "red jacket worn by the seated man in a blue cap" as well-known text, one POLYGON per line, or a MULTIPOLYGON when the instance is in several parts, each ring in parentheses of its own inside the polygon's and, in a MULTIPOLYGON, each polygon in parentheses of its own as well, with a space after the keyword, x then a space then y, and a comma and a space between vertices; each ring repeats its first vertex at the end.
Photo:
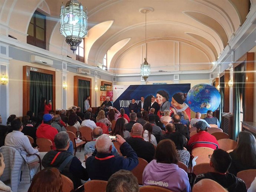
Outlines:
POLYGON ((52 126, 42 123, 39 128, 36 130, 37 138, 45 138, 52 141, 53 150, 55 150, 54 137, 58 133, 58 130, 53 128, 52 126))

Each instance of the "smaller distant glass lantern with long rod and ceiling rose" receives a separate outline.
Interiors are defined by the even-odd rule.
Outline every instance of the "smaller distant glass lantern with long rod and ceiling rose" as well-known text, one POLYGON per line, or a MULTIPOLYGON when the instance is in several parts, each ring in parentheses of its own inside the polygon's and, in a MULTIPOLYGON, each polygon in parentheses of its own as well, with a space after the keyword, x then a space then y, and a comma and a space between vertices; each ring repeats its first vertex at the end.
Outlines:
POLYGON ((144 62, 141 64, 141 76, 145 81, 147 81, 148 76, 150 76, 150 64, 147 62, 147 13, 150 13, 153 10, 152 7, 144 7, 140 9, 140 12, 145 14, 145 58, 144 62))

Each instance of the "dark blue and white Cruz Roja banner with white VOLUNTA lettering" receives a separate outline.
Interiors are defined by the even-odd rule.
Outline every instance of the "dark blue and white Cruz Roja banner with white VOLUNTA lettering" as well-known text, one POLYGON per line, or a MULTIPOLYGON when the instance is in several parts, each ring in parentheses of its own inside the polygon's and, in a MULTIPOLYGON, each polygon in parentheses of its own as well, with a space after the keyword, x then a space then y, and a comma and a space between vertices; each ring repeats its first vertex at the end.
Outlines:
POLYGON ((155 101, 161 105, 161 97, 167 97, 171 102, 175 93, 187 93, 190 90, 190 83, 187 84, 167 84, 167 85, 113 85, 113 101, 114 107, 118 110, 125 109, 125 113, 129 114, 128 106, 132 99, 138 104, 141 97, 144 96, 145 103, 151 104, 152 96, 155 101), (161 95, 162 94, 162 95, 161 95))

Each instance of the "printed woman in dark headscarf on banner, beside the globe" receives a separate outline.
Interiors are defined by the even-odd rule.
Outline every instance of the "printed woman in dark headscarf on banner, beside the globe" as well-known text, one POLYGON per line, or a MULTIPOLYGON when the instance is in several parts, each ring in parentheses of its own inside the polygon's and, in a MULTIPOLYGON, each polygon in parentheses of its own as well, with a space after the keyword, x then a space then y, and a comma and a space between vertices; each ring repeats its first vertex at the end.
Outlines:
POLYGON ((184 103, 186 101, 187 98, 187 93, 175 93, 171 99, 171 110, 174 110, 175 113, 176 112, 182 112, 182 111, 186 111, 187 116, 190 120, 190 108, 188 107, 188 105, 186 103, 184 103))

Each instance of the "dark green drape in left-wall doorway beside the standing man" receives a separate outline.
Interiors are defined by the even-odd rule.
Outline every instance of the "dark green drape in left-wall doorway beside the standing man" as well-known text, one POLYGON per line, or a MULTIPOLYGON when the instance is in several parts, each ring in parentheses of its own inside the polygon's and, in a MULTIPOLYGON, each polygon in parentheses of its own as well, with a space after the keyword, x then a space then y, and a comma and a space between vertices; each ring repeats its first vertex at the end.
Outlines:
POLYGON ((90 82, 86 80, 78 80, 78 107, 81 107, 81 110, 84 111, 83 102, 86 99, 86 96, 90 95, 90 82))

